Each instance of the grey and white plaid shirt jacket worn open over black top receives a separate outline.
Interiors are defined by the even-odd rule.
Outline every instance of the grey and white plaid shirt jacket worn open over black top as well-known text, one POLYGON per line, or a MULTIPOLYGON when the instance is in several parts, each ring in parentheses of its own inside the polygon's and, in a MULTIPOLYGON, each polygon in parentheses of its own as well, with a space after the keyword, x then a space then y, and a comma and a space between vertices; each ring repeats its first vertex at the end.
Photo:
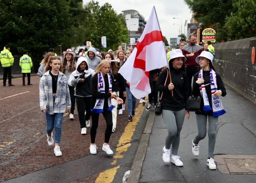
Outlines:
POLYGON ((49 73, 45 72, 40 79, 39 84, 39 98, 40 98, 40 109, 46 110, 49 114, 64 113, 67 109, 71 108, 71 100, 69 94, 69 85, 66 76, 59 71, 57 80, 57 91, 55 104, 53 104, 52 95, 52 77, 49 73))

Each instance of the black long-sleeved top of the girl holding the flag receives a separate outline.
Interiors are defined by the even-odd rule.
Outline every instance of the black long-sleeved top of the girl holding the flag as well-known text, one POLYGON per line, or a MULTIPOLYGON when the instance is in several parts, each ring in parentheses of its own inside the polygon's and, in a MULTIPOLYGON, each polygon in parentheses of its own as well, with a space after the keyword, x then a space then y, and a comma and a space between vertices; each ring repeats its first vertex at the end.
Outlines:
POLYGON ((170 68, 172 83, 174 85, 173 89, 173 97, 172 92, 168 89, 168 85, 170 84, 170 77, 168 76, 167 84, 164 86, 167 69, 165 69, 158 77, 156 90, 159 92, 163 92, 162 99, 162 109, 170 110, 170 111, 180 111, 184 109, 187 102, 189 87, 188 87, 188 79, 185 71, 170 68))

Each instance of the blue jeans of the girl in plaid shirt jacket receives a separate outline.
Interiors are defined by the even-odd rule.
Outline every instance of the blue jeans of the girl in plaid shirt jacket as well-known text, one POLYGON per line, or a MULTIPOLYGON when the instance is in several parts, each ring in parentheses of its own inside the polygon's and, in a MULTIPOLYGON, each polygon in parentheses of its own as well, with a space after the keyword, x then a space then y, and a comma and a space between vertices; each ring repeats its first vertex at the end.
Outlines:
MULTIPOLYGON (((55 97, 53 97, 53 103, 55 103, 55 97)), ((64 113, 54 113, 49 114, 46 113, 46 132, 48 135, 50 135, 53 131, 53 128, 55 128, 55 143, 60 143, 61 138, 61 130, 62 130, 62 118, 64 113)))

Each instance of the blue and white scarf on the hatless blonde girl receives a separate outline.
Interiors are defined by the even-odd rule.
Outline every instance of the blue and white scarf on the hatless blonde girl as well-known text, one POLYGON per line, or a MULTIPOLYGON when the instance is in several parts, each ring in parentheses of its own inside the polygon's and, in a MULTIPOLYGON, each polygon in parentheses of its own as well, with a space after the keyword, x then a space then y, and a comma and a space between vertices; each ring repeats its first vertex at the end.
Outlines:
MULTIPOLYGON (((108 75, 108 85, 109 85, 109 89, 108 92, 112 92, 112 79, 110 74, 108 75)), ((98 92, 101 93, 105 93, 105 81, 104 81, 104 77, 102 75, 102 72, 98 73, 98 92)), ((103 112, 103 107, 104 107, 104 98, 98 98, 96 100, 96 103, 94 105, 94 108, 91 109, 92 112, 94 113, 102 113, 103 112)), ((112 111, 112 109, 115 108, 115 105, 111 104, 111 99, 108 98, 108 111, 112 111)))

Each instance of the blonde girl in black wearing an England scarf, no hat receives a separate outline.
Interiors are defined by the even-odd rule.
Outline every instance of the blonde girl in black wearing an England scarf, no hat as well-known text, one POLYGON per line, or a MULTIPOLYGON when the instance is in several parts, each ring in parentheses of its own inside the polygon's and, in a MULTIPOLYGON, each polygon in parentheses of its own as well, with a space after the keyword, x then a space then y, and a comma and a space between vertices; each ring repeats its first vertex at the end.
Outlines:
POLYGON ((112 92, 112 80, 113 78, 109 74, 110 62, 107 60, 101 61, 96 67, 95 74, 91 79, 91 90, 92 90, 92 128, 90 130, 91 144, 90 153, 97 154, 97 146, 95 144, 95 137, 99 122, 99 113, 102 113, 107 124, 105 131, 105 140, 102 146, 102 150, 106 151, 107 154, 113 154, 110 149, 108 142, 110 140, 112 131, 112 109, 115 106, 111 103, 111 98, 115 98, 118 104, 122 104, 123 100, 116 95, 116 92, 112 92))

